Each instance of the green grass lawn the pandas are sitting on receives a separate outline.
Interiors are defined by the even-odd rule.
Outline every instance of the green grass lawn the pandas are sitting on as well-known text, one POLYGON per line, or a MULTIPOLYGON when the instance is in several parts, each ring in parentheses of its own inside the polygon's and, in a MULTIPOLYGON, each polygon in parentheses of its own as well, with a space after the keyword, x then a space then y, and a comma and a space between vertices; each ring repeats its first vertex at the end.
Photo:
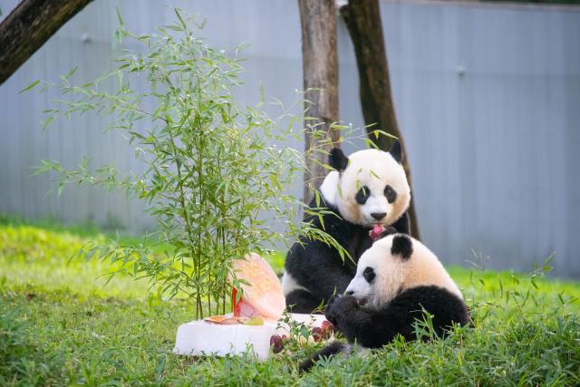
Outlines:
MULTIPOLYGON (((396 342, 306 375, 315 347, 266 363, 171 353, 188 300, 166 300, 111 267, 72 260, 94 229, 0 221, 0 385, 579 385, 580 283, 451 267, 474 326, 396 342)), ((283 257, 271 259, 281 271, 283 257)))

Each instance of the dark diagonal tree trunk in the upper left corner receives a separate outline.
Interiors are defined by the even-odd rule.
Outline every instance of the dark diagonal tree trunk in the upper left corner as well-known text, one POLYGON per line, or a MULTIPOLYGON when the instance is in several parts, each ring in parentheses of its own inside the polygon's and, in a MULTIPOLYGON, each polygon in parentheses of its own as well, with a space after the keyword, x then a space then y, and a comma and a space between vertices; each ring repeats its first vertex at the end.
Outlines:
POLYGON ((92 0, 22 0, 0 24, 0 84, 92 0))

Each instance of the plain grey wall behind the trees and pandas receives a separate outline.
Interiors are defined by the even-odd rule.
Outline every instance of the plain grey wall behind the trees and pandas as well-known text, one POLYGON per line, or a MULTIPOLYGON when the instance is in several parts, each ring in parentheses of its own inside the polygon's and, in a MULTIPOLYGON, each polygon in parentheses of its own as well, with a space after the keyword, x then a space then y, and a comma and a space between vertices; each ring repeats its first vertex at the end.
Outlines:
MULTIPOLYGON (((5 15, 15 4, 0 1, 5 15)), ((295 101, 302 63, 293 0, 94 2, 0 87, 0 211, 150 226, 143 206, 120 194, 45 195, 50 176, 29 177, 41 159, 73 166, 87 154, 120 169, 140 165, 92 116, 42 132, 51 95, 18 91, 76 65, 78 82, 110 67, 116 6, 131 30, 148 32, 173 20, 173 5, 208 16, 204 34, 213 45, 251 44, 242 102, 258 100, 260 81, 266 95, 295 101)), ((473 250, 488 267, 518 270, 556 251, 556 274, 580 277, 580 8, 385 1, 382 19, 427 245, 446 263, 467 265, 477 259, 473 250)), ((353 47, 342 23, 339 51, 341 116, 360 126, 353 47)))

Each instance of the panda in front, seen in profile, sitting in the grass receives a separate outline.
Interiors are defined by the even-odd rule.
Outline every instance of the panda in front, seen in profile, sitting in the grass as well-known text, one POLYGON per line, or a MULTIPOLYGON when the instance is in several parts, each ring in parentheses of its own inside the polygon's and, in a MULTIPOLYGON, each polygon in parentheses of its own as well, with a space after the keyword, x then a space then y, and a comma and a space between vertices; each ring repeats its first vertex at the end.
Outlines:
MULTIPOLYGON (((326 319, 350 344, 381 348, 401 334, 413 340, 413 323, 432 315, 434 332, 443 336, 452 324, 468 324, 468 308, 459 287, 437 256, 418 240, 394 234, 375 242, 362 254, 356 276, 343 296, 334 296, 326 319)), ((351 348, 331 343, 300 364, 306 371, 323 356, 351 348)))

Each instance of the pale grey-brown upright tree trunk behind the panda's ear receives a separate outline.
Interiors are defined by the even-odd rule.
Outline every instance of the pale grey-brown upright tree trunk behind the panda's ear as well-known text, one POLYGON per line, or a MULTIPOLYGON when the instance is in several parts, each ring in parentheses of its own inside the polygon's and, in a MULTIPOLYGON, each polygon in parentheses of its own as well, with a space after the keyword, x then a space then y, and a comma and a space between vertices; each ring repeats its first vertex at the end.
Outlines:
MULTIPOLYGON (((333 142, 338 141, 340 133, 330 129, 338 121, 338 55, 336 52, 336 8, 334 0, 298 0, 302 26, 302 62, 304 76, 304 98, 312 105, 306 115, 315 117, 305 121, 304 143, 307 153, 304 175, 304 202, 310 203, 312 192, 309 186, 318 188, 327 170, 327 156, 315 151, 314 130, 324 130, 333 142), (309 90, 312 88, 322 90, 309 90)), ((330 148, 330 146, 328 146, 330 148)))

